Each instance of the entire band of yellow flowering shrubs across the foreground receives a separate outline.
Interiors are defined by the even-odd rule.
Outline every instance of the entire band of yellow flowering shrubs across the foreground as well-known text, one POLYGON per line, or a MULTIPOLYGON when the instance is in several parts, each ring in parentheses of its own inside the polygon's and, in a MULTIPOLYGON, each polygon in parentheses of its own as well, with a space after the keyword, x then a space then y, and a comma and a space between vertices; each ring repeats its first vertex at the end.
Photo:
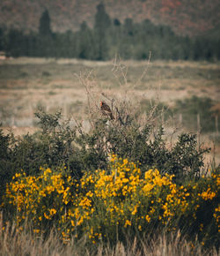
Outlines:
POLYGON ((56 226, 63 240, 84 232, 92 242, 115 234, 174 230, 187 224, 203 242, 219 232, 219 174, 178 185, 158 169, 143 173, 135 162, 112 155, 107 170, 73 180, 65 169, 41 169, 39 176, 16 174, 7 184, 4 209, 12 207, 18 227, 26 219, 35 233, 56 226))

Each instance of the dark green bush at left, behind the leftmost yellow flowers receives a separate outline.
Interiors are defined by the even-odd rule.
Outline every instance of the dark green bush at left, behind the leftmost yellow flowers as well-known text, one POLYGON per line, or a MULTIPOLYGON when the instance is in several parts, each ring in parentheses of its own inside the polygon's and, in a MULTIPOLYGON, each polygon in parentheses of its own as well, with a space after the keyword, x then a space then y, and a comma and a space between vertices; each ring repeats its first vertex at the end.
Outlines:
MULTIPOLYGON (((58 124, 60 112, 48 115, 40 111, 36 116, 40 118, 40 132, 26 134, 23 138, 0 133, 2 191, 15 171, 26 169, 27 174, 35 174, 40 166, 58 168, 70 162, 70 154, 73 154, 70 143, 75 131, 65 124, 58 124)), ((71 168, 74 169, 73 161, 71 168)))

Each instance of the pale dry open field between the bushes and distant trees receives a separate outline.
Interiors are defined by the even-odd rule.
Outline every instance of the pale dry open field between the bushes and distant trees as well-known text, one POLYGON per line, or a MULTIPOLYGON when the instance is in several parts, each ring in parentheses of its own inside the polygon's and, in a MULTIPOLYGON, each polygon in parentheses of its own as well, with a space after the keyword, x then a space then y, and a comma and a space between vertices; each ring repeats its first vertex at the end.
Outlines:
MULTIPOLYGON (((220 64, 207 62, 92 62, 75 59, 0 60, 0 117, 15 134, 36 130, 33 113, 62 109, 65 117, 84 119, 86 90, 141 102, 175 101, 192 95, 220 99, 220 64)), ((6 128, 7 127, 7 128, 6 128)), ((193 131, 196 132, 196 131, 193 131)), ((203 138, 209 144, 209 134, 203 138)), ((216 154, 219 152, 216 145, 216 154)), ((218 156, 216 156, 218 158, 218 156)))

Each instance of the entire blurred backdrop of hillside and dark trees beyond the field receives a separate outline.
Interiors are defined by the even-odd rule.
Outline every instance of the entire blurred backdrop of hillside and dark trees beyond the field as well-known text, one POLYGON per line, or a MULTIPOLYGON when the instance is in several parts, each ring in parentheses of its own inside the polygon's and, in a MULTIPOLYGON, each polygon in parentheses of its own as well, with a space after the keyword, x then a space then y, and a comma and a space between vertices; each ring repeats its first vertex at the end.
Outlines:
POLYGON ((218 1, 2 0, 6 56, 218 60, 218 1))

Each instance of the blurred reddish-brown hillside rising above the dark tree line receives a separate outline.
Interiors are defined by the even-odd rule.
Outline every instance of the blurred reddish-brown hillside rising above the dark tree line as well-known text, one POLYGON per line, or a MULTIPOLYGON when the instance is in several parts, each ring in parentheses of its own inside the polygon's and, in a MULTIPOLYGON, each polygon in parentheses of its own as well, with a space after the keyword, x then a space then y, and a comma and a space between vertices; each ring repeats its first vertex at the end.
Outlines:
MULTIPOLYGON (((42 11, 48 9, 56 32, 77 30, 85 20, 93 25, 99 0, 2 0, 0 26, 37 30, 42 11)), ((218 0, 108 0, 106 11, 112 19, 150 19, 172 27, 178 34, 207 34, 220 24, 218 0)))

